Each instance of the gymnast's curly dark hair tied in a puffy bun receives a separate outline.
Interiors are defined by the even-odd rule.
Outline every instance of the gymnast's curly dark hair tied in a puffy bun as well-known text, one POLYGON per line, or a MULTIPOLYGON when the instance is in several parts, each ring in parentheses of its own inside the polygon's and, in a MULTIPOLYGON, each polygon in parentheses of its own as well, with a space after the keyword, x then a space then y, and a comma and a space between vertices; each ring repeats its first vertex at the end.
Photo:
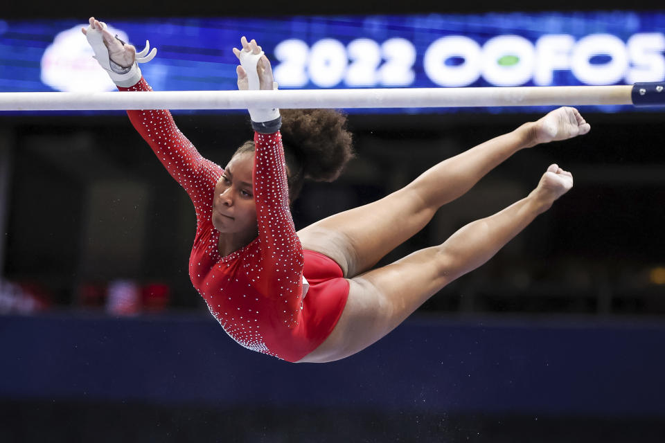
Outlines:
MULTIPOLYGON (((289 171, 289 201, 300 194, 305 179, 333 181, 353 159, 353 139, 346 115, 333 109, 281 109, 282 141, 289 171)), ((246 141, 233 156, 254 151, 246 141)))

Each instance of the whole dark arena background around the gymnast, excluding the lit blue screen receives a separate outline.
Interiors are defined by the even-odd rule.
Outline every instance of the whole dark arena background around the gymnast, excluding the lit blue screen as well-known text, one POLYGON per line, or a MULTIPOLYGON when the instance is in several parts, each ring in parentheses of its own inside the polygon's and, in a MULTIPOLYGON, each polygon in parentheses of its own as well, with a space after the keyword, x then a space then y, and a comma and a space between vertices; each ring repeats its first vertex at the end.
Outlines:
MULTIPOLYGON (((112 22, 658 6, 40 0, 3 14, 112 22)), ((662 441, 664 116, 585 114, 587 136, 497 168, 386 262, 526 195, 553 161, 576 185, 387 338, 326 365, 249 352, 213 321, 187 275, 190 202, 125 116, 2 116, 0 440, 662 441), (112 294, 136 290, 138 305, 109 308, 112 294)), ((296 227, 533 118, 354 114, 357 160, 335 183, 305 188, 296 227)), ((220 163, 251 135, 240 114, 177 124, 220 163)))

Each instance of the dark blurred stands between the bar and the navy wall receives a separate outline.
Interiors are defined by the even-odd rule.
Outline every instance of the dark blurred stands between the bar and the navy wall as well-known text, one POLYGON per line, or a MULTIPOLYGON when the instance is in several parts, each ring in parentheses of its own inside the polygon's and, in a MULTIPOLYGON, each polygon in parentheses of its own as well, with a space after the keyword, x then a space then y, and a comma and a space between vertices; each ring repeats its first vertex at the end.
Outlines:
MULTIPOLYGON (((513 156, 385 258, 441 243, 525 197, 551 163, 574 173, 568 195, 423 310, 665 314, 662 114, 585 116, 592 132, 513 156)), ((539 117, 349 116, 357 159, 334 183, 305 187, 294 205, 296 228, 387 195, 438 161, 539 117)), ((222 165, 251 138, 242 115, 175 119, 222 165)), ((7 280, 53 308, 103 307, 109 285, 123 281, 154 296, 143 300, 154 309, 204 309, 187 273, 193 206, 126 116, 12 117, 1 125, 14 147, 7 280)))

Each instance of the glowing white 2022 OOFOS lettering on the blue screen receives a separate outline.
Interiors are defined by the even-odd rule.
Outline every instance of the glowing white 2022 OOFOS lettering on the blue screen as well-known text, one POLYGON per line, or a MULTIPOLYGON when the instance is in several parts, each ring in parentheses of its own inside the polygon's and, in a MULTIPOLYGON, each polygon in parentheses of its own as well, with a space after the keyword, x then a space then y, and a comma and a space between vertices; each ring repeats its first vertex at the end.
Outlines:
MULTIPOLYGON (((570 71, 583 84, 659 82, 665 79, 665 35, 639 33, 628 42, 611 34, 543 35, 535 44, 520 35, 497 35, 481 45, 464 35, 434 40, 423 54, 423 71, 434 84, 465 87, 480 78, 494 86, 553 83, 570 71)), ((299 39, 277 44, 275 80, 284 87, 409 87, 415 80, 416 48, 406 39, 383 44, 355 39, 347 46, 321 39, 312 47, 299 39)))

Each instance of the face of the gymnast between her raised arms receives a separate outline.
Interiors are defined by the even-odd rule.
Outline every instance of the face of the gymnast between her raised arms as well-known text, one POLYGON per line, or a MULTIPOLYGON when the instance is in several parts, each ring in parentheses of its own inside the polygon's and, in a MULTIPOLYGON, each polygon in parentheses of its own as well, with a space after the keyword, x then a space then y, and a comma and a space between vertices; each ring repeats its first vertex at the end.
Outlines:
POLYGON ((213 226, 220 233, 254 235, 256 204, 251 186, 254 152, 233 156, 215 185, 213 226))

